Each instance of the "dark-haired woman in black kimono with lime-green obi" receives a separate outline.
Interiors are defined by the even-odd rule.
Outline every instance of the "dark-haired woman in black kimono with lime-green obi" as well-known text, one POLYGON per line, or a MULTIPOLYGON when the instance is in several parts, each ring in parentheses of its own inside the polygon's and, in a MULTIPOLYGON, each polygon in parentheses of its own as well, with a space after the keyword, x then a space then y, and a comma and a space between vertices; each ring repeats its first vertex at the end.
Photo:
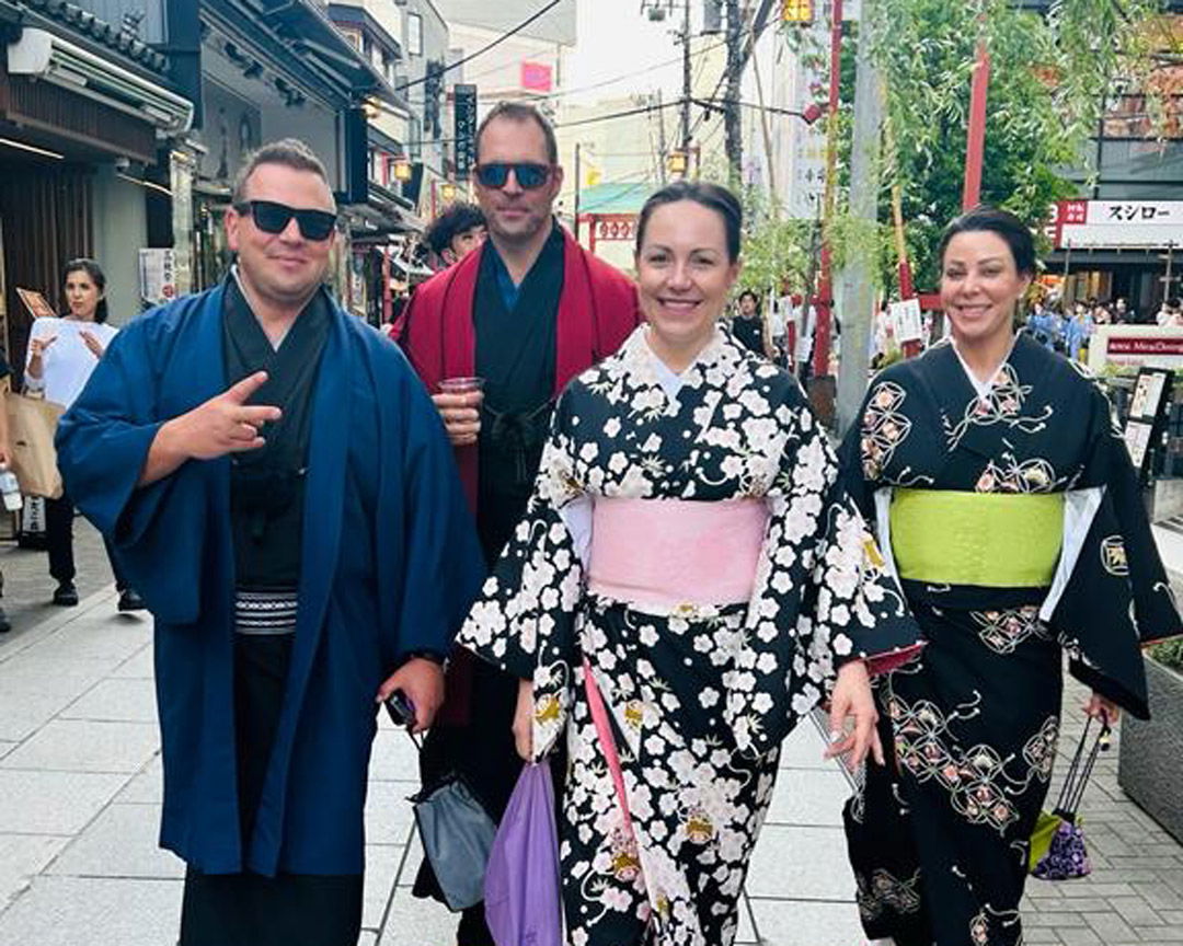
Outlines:
POLYGON ((1105 394, 1014 332, 1030 231, 971 210, 940 261, 950 342, 880 374, 843 445, 926 642, 877 687, 891 758, 846 825, 873 940, 1016 946, 1062 655, 1090 715, 1145 718, 1140 647, 1181 627, 1105 394))

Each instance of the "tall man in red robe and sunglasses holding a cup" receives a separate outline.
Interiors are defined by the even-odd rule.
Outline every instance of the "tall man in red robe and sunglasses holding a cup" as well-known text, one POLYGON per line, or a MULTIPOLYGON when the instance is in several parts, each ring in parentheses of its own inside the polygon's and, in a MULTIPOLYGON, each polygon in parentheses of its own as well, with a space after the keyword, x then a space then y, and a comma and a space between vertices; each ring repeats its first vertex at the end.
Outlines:
MULTIPOLYGON (((496 106, 477 131, 487 239, 419 287, 403 324, 403 350, 444 417, 490 564, 525 511, 555 397, 641 320, 632 281, 555 221, 562 183, 550 123, 529 105, 496 106), (483 391, 439 393, 441 381, 473 376, 483 391)), ((425 783, 459 770, 500 817, 522 765, 517 692, 516 679, 458 652, 421 757, 425 783)), ((415 894, 439 896, 429 866, 415 894)), ((464 912, 458 946, 493 946, 483 905, 464 912)))

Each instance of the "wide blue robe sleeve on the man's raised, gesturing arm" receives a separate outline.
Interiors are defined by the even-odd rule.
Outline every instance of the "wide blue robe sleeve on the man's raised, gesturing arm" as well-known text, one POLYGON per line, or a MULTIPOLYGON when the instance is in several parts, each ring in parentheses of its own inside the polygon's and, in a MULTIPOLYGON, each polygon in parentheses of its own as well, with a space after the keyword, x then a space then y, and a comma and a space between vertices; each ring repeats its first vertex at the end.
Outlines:
POLYGON ((143 323, 121 331, 63 416, 58 466, 75 505, 111 542, 129 584, 166 623, 198 620, 206 490, 198 465, 138 487, 164 420, 143 323))

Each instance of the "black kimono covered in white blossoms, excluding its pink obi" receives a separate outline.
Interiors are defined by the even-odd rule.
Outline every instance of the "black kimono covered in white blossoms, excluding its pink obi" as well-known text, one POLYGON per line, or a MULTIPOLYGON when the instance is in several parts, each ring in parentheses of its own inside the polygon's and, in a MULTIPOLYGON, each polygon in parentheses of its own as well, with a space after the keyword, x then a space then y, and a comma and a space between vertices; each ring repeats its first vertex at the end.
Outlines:
MULTIPOLYGON (((560 825, 575 946, 728 946, 778 745, 859 655, 918 631, 796 382, 724 331, 667 393, 641 328, 561 397, 538 481, 459 642, 532 679, 534 747, 565 736, 560 825), (751 601, 644 613, 586 589, 573 511, 597 498, 757 498, 751 601), (608 706, 626 822, 583 687, 608 706)), ((594 544, 594 543, 593 543, 594 544)))

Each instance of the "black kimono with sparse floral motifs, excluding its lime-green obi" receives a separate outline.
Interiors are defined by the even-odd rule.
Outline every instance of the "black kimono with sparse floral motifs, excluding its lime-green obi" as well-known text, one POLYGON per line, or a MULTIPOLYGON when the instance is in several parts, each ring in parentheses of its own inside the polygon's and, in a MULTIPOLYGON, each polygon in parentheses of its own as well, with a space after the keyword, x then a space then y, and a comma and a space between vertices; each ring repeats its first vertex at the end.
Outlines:
POLYGON ((884 371, 842 460, 888 569, 893 488, 1065 493, 1051 587, 901 582, 926 647, 879 680, 894 758, 868 769, 846 810, 871 938, 1015 946, 1062 654, 1077 678, 1145 717, 1139 644, 1181 630, 1129 453, 1098 385, 1022 335, 984 396, 948 343, 884 371))

